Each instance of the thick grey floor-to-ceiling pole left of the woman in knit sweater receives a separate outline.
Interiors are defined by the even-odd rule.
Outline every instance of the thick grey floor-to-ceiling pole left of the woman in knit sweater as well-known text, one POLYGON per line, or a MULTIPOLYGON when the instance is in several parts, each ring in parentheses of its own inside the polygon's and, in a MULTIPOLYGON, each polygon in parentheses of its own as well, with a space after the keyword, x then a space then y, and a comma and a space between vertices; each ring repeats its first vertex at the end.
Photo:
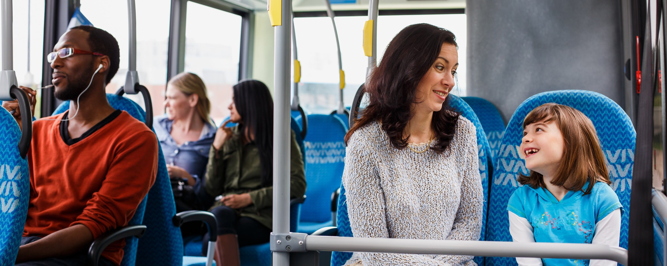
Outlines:
MULTIPOLYGON (((276 1, 277 2, 277 1, 276 1)), ((271 7, 271 9, 274 7, 271 7)), ((273 233, 289 233, 289 70, 291 65, 291 0, 281 0, 281 24, 273 45, 273 233)), ((289 253, 273 252, 273 266, 288 266, 289 253)))

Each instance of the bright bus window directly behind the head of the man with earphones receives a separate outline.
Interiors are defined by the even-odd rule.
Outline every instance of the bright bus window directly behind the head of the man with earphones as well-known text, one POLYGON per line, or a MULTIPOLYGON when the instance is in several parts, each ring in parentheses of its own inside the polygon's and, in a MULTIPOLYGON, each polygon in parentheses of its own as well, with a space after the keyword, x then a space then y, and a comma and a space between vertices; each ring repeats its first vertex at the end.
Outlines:
MULTIPOLYGON (((164 114, 162 102, 167 84, 167 40, 169 39, 168 0, 135 1, 137 13, 137 72, 139 83, 148 88, 153 101, 153 115, 164 114)), ((109 5, 105 1, 81 0, 81 13, 95 27, 103 29, 118 41, 121 61, 118 72, 107 84, 107 93, 125 85, 128 60, 127 3, 109 5)), ((143 106, 141 94, 125 97, 143 106)))

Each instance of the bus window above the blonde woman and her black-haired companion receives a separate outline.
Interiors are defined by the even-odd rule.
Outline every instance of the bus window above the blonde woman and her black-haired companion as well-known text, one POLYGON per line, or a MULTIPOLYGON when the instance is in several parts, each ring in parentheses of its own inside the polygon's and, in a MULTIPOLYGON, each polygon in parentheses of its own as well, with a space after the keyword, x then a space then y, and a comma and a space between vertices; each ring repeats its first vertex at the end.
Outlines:
MULTIPOLYGON (((239 81, 241 55, 240 15, 187 2, 185 17, 185 67, 206 84, 211 118, 220 124, 229 116, 231 86, 239 81)), ((267 66, 266 71, 273 71, 267 66)))

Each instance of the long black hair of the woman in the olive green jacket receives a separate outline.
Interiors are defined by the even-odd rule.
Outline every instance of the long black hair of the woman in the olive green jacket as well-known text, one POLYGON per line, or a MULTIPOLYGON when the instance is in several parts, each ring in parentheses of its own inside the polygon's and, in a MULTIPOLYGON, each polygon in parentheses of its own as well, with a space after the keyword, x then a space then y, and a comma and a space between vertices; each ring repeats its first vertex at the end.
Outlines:
POLYGON ((273 184, 273 98, 269 88, 259 80, 241 80, 233 86, 234 105, 241 116, 239 130, 255 136, 261 164, 261 186, 273 184))

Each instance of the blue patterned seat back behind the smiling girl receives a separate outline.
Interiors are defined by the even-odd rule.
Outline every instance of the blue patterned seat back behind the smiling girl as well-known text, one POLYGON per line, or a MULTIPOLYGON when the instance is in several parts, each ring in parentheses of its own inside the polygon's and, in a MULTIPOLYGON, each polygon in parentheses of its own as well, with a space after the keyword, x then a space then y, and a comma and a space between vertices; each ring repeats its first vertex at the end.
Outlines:
MULTIPOLYGON (((490 184, 488 220, 494 222, 488 223, 486 227, 486 240, 512 241, 508 230, 507 202, 520 186, 516 182, 518 174, 528 174, 524 161, 517 154, 517 147, 523 137, 523 120, 528 112, 548 102, 572 106, 593 122, 605 154, 612 188, 625 210, 621 219, 620 247, 628 248, 628 213, 636 132, 628 115, 616 102, 588 90, 542 92, 526 99, 516 109, 500 142, 496 169, 490 184)), ((516 261, 514 258, 487 257, 486 265, 516 265, 516 261)))

